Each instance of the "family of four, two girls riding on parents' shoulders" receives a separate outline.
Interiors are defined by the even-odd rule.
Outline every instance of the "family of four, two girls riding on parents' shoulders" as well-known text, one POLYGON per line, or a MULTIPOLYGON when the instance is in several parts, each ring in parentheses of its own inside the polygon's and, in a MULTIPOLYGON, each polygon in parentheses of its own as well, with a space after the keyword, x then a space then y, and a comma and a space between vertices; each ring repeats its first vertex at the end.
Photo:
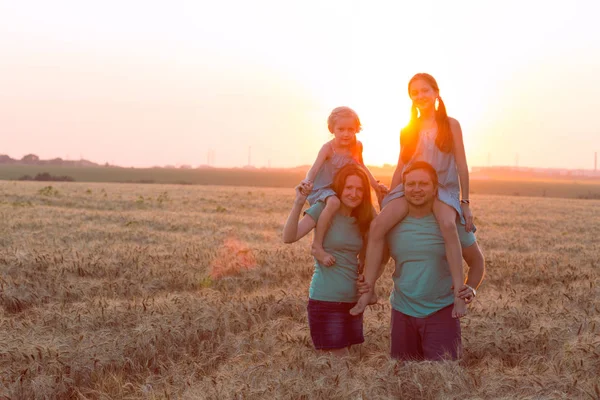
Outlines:
POLYGON ((391 190, 364 165, 356 139, 360 119, 348 107, 331 112, 327 125, 334 138, 295 188, 283 240, 293 243, 315 231, 307 310, 317 350, 345 355, 364 341, 363 312, 377 302, 375 283, 391 256, 391 356, 460 357, 460 318, 485 270, 474 235, 462 131, 446 114, 431 75, 413 76, 408 94, 410 121, 400 132, 391 190), (306 200, 310 207, 300 218, 306 200))

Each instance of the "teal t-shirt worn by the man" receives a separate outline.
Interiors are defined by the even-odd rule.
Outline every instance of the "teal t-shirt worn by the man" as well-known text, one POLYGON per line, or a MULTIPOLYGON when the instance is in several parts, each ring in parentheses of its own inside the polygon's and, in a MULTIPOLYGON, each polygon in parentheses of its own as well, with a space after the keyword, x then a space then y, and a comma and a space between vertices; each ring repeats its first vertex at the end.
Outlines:
MULTIPOLYGON (((475 243, 475 235, 458 224, 462 247, 475 243)), ((423 318, 454 303, 452 276, 446 260, 444 237, 433 214, 422 218, 407 216, 387 235, 396 261, 392 308, 423 318)))

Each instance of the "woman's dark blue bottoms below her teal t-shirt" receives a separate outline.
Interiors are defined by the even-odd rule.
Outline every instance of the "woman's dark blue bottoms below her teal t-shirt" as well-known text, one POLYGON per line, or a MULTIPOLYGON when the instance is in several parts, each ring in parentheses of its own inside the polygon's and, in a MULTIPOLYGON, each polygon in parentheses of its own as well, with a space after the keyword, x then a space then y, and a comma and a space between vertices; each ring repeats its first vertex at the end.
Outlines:
POLYGON ((355 304, 308 299, 308 326, 315 349, 342 349, 365 341, 363 315, 350 314, 355 304))

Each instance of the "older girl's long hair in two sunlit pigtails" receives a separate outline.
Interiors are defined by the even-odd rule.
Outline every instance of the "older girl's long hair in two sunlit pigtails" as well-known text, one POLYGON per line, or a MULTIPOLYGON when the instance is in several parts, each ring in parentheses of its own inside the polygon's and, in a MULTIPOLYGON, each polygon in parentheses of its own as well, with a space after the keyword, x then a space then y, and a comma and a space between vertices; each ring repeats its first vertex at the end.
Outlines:
MULTIPOLYGON (((437 93, 440 92, 437 82, 434 77, 426 74, 419 73, 413 76, 408 82, 408 95, 410 96, 410 85, 416 80, 423 80, 429 84, 437 93)), ((452 131, 450 130, 450 120, 446 113, 446 105, 442 101, 441 97, 437 98, 438 107, 435 110, 435 121, 437 122, 438 132, 435 138, 435 144, 438 149, 445 153, 452 151, 452 131)), ((412 156, 415 154, 417 149, 417 143, 419 142, 419 130, 421 129, 421 121, 419 120, 419 110, 412 104, 410 110, 410 121, 408 125, 400 132, 400 148, 401 158, 404 164, 407 164, 412 156)))

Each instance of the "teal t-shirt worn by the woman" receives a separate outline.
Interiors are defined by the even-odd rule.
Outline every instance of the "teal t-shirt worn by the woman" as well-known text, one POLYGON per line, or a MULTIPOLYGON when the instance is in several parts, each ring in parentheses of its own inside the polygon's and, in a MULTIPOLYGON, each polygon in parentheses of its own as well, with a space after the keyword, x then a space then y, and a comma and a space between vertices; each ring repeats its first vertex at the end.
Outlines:
MULTIPOLYGON (((325 208, 317 202, 305 211, 315 221, 325 208)), ((310 282, 309 298, 321 301, 354 303, 358 300, 356 279, 358 278, 358 253, 363 239, 356 218, 334 215, 323 239, 323 248, 335 257, 331 267, 321 265, 315 259, 315 270, 310 282)))

